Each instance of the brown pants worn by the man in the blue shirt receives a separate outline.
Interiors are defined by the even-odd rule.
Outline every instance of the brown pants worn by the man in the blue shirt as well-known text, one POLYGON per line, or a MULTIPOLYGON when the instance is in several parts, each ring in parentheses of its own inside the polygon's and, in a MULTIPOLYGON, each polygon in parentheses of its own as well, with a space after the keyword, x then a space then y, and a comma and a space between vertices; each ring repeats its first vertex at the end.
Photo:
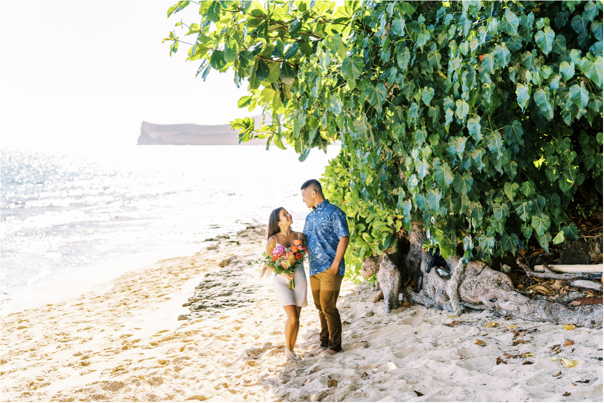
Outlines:
POLYGON ((334 351, 342 350, 342 321, 336 301, 344 276, 333 274, 332 269, 310 276, 310 288, 321 320, 321 346, 334 351))

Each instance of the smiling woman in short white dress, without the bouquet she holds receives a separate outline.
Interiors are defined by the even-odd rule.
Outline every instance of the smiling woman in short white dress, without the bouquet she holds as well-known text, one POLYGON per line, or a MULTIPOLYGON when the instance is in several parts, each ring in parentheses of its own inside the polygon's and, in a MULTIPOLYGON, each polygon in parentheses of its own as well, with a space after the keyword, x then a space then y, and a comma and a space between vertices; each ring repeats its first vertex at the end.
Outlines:
MULTIPOLYGON (((268 241, 266 242, 266 254, 272 255, 272 250, 277 245, 282 245, 284 248, 291 248, 294 245, 295 239, 300 239, 303 243, 306 237, 303 233, 292 231, 291 214, 283 207, 272 210, 268 222, 268 241)), ((274 269, 265 266, 262 269, 264 276, 269 272, 274 272, 274 269)), ((281 273, 274 276, 273 289, 277 303, 283 306, 288 319, 285 321, 285 356, 287 359, 300 359, 294 354, 294 346, 298 337, 298 329, 300 329, 300 312, 302 308, 308 305, 306 301, 306 273, 304 265, 299 263, 294 276, 292 274, 281 273), (289 280, 294 278, 294 289, 289 289, 289 280)))

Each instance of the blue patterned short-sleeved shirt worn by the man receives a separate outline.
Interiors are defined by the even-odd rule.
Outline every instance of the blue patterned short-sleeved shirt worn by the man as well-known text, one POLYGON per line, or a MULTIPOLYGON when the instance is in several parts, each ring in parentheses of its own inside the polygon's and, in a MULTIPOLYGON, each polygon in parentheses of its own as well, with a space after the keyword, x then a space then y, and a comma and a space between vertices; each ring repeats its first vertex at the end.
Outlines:
MULTIPOLYGON (((304 235, 308 241, 310 276, 314 276, 330 268, 339 240, 349 236, 346 214, 329 200, 324 200, 306 216, 304 235)), ((339 276, 344 276, 344 267, 342 259, 339 276)))

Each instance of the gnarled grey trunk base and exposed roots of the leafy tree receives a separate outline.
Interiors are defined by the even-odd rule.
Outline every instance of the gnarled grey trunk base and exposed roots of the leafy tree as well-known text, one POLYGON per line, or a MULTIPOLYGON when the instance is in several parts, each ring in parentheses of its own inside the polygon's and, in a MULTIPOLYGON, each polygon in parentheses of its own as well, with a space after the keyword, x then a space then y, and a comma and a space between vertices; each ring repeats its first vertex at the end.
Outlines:
POLYGON ((414 223, 413 231, 400 239, 398 251, 372 258, 373 268, 379 262, 377 279, 384 294, 385 312, 398 308, 402 294, 403 301, 457 314, 462 307, 490 309, 524 320, 602 327, 602 305, 568 306, 533 300, 515 291, 506 274, 483 262, 463 265, 459 257, 450 257, 446 269, 451 276, 441 277, 432 269, 433 257, 422 248, 425 239, 421 225, 414 223))

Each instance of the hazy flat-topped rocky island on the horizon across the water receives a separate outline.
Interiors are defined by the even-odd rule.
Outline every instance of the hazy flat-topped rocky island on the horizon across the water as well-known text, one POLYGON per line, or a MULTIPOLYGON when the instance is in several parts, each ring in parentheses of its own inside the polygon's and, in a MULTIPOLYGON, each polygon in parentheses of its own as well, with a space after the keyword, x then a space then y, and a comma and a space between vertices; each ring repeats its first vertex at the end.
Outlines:
MULTIPOLYGON (((259 120, 256 119, 256 121, 259 120)), ((153 124, 143 121, 137 144, 139 146, 231 146, 239 144, 238 133, 231 129, 230 124, 203 126, 190 123, 153 124)), ((255 139, 241 144, 266 144, 266 140, 255 139)))

